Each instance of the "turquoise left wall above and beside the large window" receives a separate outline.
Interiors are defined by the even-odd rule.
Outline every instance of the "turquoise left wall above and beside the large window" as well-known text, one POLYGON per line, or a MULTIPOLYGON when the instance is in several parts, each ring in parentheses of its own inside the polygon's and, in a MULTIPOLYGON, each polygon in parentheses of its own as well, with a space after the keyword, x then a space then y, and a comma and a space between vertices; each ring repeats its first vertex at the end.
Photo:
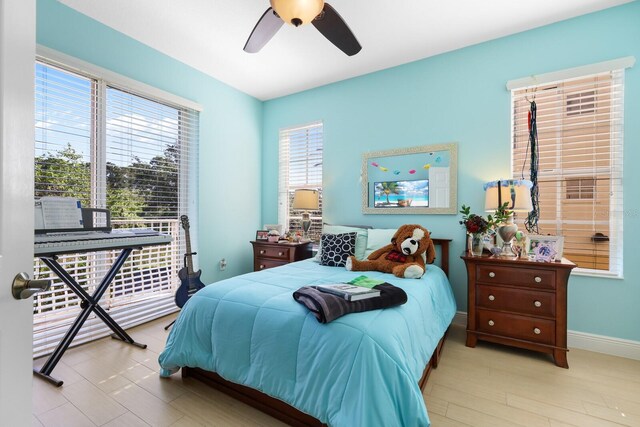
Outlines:
POLYGON ((37 2, 37 42, 203 107, 199 247, 194 248, 203 281, 251 270, 249 241, 261 221, 262 102, 55 0, 37 2), (223 257, 228 267, 219 271, 223 257))

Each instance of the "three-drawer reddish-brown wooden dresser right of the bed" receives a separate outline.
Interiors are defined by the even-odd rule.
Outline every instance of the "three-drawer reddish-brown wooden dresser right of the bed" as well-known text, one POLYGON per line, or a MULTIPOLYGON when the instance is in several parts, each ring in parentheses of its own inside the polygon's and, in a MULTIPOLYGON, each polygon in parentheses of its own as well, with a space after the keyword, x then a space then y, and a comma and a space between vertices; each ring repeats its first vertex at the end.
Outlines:
POLYGON ((541 351, 567 363, 567 282, 576 266, 471 256, 467 267, 467 346, 478 340, 541 351))

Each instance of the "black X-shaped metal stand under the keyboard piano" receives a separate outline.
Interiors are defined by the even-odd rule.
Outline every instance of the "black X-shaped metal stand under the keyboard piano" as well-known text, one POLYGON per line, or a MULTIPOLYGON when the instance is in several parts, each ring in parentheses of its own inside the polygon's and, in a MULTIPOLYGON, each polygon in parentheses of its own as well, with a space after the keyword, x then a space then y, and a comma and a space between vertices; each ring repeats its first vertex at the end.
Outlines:
POLYGON ((40 257, 42 262, 44 262, 47 265, 47 267, 49 267, 51 271, 53 271, 60 278, 60 280, 62 280, 67 286, 69 286, 69 288, 71 288, 71 290, 76 295, 78 295, 78 297, 81 300, 80 307, 82 307, 82 311, 80 312, 78 317, 76 317, 76 320, 73 322, 73 325, 71 325, 67 333, 64 335, 64 337, 62 338, 62 340, 54 350, 54 352, 47 359, 46 363, 42 365, 42 368, 40 368, 40 370, 36 370, 36 369, 33 370, 34 374, 45 379, 46 381, 49 381, 50 383, 54 384, 57 387, 60 387, 63 384, 63 381, 52 377, 51 372, 53 372, 53 369, 56 367, 56 365, 60 361, 60 358, 62 358, 62 355, 64 354, 64 352, 67 351, 67 348, 69 348, 69 345, 71 345, 71 342, 73 341, 75 336, 78 334, 78 332, 80 331, 80 328, 82 328, 82 325, 84 324, 84 322, 87 320, 87 318, 92 312, 95 312, 95 314, 100 319, 102 319, 102 321, 109 328, 111 328, 111 330, 113 331, 113 334, 111 334, 111 338, 122 340, 125 343, 133 344, 140 348, 147 348, 146 344, 137 343, 133 340, 133 338, 127 335, 124 329, 122 329, 120 325, 118 325, 116 321, 113 320, 113 318, 111 318, 111 316, 109 316, 109 314, 107 314, 107 312, 98 305, 100 298, 102 298, 105 291, 107 290, 107 288, 109 287, 113 279, 116 277, 116 275, 118 274, 118 271, 120 271, 120 268, 122 268, 125 261, 131 254, 131 251, 133 251, 133 249, 141 249, 141 248, 122 249, 122 251, 120 252, 120 255, 118 255, 118 258, 115 260, 111 268, 109 268, 109 271, 104 276, 104 278, 96 288, 93 295, 89 295, 87 291, 85 291, 82 288, 82 286, 80 286, 78 282, 76 282, 75 279, 71 277, 69 273, 67 273, 67 271, 60 265, 60 263, 58 263, 57 255, 40 257))

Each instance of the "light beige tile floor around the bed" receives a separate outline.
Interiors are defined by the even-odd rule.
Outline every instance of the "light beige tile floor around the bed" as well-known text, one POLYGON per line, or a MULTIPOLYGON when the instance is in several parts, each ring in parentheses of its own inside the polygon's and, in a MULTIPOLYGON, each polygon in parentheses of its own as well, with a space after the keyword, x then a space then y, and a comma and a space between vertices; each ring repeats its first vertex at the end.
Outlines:
MULTIPOLYGON (((128 330, 146 350, 110 338, 68 350, 53 372, 62 387, 33 379, 33 426, 283 426, 198 381, 159 378, 174 317, 128 330)), ((640 426, 640 361, 572 350, 566 370, 538 353, 467 348, 464 338, 452 327, 425 387, 434 427, 640 426)))

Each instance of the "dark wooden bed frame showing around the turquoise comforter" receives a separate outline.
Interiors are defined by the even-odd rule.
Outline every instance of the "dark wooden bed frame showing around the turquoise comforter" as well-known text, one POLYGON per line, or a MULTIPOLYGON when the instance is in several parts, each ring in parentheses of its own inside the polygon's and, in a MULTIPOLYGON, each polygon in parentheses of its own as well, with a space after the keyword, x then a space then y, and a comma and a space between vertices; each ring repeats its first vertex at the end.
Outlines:
MULTIPOLYGON (((444 271, 444 273, 449 276, 449 243, 451 239, 432 239, 434 245, 440 246, 440 268, 444 271)), ((427 267, 428 268, 428 267, 427 267)), ((440 361, 440 355, 442 353, 442 347, 444 345, 445 338, 447 336, 447 331, 445 331, 442 338, 438 342, 436 349, 431 355, 431 359, 427 363, 427 366, 424 368, 424 372, 422 373, 422 378, 418 381, 418 385, 420 389, 423 390, 424 386, 427 384, 427 379, 429 378, 429 374, 433 368, 438 367, 438 362, 440 361)), ((258 390, 253 388, 236 384, 231 381, 227 381, 222 378, 220 375, 215 372, 205 371, 200 368, 182 368, 182 376, 183 377, 191 377, 195 378, 211 387, 248 404, 266 414, 271 415, 274 418, 283 421, 291 426, 296 427, 318 427, 318 426, 326 426, 326 424, 321 423, 316 418, 313 418, 309 414, 305 414, 302 411, 294 408, 293 406, 271 397, 267 394, 264 394, 258 390)))

